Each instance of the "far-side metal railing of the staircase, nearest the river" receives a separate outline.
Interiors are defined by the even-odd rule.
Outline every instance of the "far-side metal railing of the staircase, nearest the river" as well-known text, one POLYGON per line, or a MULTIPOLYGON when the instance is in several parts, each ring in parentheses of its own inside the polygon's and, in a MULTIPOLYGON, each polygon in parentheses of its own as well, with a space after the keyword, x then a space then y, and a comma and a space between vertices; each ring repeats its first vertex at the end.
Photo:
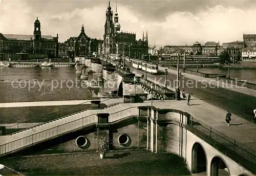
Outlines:
MULTIPOLYGON (((61 109, 59 111, 56 111, 50 114, 42 115, 24 122, 14 124, 12 126, 7 126, 5 128, 5 135, 12 135, 12 134, 18 133, 19 131, 26 130, 28 128, 39 126, 45 123, 49 123, 53 120, 58 120, 58 119, 70 116, 72 114, 86 111, 87 109, 92 108, 91 101, 97 101, 97 100, 89 100, 80 104, 73 105, 71 107, 61 109)), ((105 107, 113 106, 115 104, 123 103, 123 98, 113 97, 113 98, 98 100, 98 101, 100 101, 99 108, 105 108, 105 107)))

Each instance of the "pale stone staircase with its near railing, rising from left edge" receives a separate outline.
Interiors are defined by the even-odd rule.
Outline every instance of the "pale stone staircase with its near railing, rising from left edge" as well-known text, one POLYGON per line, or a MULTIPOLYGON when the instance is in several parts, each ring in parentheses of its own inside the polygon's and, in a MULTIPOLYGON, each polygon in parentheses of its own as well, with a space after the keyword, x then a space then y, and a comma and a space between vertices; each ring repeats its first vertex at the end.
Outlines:
POLYGON ((88 109, 12 135, 3 136, 4 138, 0 138, 0 156, 97 123, 97 114, 99 113, 109 113, 109 122, 114 122, 125 117, 138 115, 138 110, 137 107, 124 108, 122 104, 105 109, 88 109))

